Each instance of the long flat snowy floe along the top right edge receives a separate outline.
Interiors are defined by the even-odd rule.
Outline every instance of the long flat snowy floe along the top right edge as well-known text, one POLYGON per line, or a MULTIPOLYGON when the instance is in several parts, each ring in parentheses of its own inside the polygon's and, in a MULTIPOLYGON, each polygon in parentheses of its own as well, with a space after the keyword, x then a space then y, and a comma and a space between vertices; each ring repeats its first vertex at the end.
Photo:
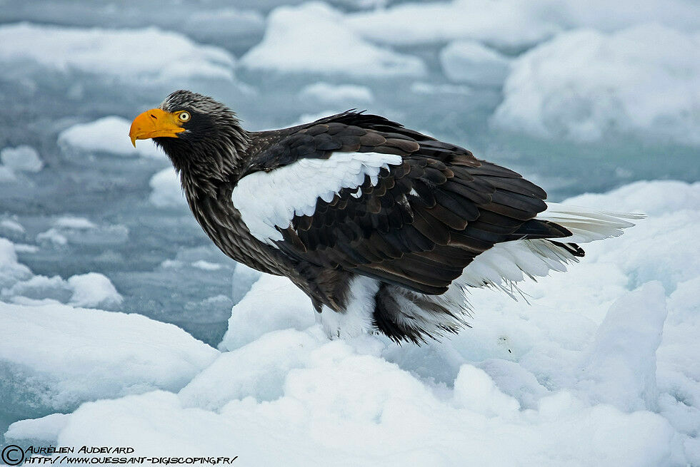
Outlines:
POLYGON ((350 14, 346 24, 379 43, 405 46, 472 39, 518 50, 577 27, 616 31, 649 21, 696 31, 700 7, 686 0, 401 2, 388 9, 350 14))

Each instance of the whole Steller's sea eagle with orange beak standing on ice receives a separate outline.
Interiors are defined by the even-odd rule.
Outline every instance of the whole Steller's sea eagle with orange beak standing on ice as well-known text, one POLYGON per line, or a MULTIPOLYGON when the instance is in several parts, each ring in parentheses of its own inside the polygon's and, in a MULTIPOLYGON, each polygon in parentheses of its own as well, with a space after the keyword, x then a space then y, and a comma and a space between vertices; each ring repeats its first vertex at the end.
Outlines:
POLYGON ((639 217, 548 205, 512 170, 354 111, 251 132, 224 104, 175 91, 129 136, 163 148, 222 252, 289 277, 337 337, 419 343, 457 332, 469 287, 510 292, 565 270, 584 256, 577 243, 639 217))

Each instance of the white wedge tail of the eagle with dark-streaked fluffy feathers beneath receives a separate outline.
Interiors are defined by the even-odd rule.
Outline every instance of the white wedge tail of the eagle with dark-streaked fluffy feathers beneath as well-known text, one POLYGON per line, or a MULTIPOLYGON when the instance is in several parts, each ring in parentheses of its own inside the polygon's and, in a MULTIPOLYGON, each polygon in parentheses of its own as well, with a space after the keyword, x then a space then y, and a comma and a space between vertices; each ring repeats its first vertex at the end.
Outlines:
POLYGON ((577 243, 622 235, 642 214, 607 212, 548 203, 548 209, 525 222, 511 241, 481 253, 444 294, 421 294, 383 283, 376 294, 374 326, 396 342, 416 344, 440 339, 468 326, 471 287, 491 287, 514 299, 524 297, 518 282, 566 271, 584 250, 577 243))

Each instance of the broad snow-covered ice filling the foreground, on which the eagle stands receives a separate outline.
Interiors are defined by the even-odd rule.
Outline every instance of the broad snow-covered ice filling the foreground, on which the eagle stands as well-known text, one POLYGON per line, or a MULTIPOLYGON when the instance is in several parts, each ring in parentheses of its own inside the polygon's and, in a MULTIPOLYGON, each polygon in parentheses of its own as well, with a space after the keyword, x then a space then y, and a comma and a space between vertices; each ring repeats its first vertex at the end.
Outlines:
POLYGON ((529 304, 475 289, 472 328, 423 347, 331 341, 309 299, 267 275, 234 306, 223 354, 137 315, 5 304, 9 381, 33 381, 22 391, 44 407, 6 436, 261 466, 700 462, 700 183, 566 202, 649 218, 525 284, 529 304))

